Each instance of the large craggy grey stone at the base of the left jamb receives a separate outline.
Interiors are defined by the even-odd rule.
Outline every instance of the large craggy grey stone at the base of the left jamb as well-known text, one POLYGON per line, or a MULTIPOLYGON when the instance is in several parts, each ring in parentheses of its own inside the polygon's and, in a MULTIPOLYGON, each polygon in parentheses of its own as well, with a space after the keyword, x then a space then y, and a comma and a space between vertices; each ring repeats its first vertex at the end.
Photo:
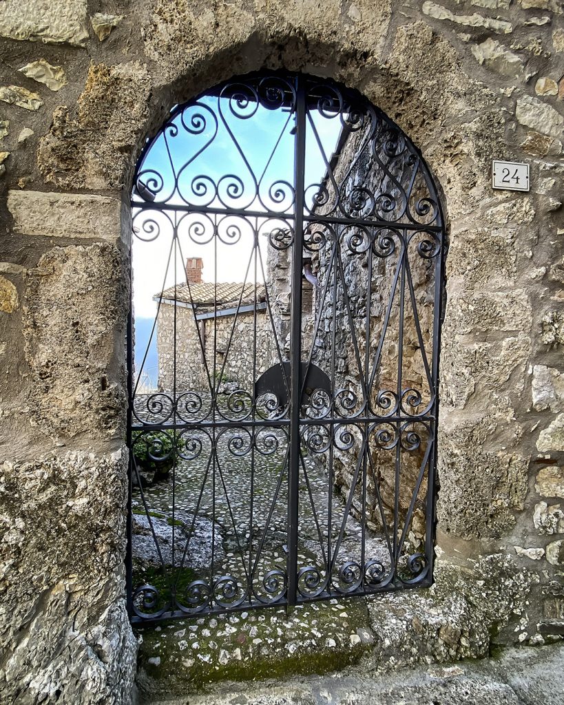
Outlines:
POLYGON ((126 457, 67 453, 0 465, 4 703, 130 702, 136 644, 123 603, 126 457))

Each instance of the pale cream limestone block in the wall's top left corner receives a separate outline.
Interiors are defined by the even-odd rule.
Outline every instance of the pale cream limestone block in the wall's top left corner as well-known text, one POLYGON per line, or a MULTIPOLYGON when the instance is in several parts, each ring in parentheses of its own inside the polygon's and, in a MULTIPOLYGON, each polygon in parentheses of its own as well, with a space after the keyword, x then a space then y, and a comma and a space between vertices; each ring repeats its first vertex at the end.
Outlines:
POLYGON ((0 35, 82 47, 88 39, 87 0, 3 0, 0 35))

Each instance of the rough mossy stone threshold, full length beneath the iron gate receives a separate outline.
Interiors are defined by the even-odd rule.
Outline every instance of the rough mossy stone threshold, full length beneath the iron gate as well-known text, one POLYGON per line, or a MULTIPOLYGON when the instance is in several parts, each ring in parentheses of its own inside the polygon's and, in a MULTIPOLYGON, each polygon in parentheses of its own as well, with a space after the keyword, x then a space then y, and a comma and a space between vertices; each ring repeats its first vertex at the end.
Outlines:
MULTIPOLYGON (((523 641, 515 621, 534 574, 495 554, 472 570, 439 560, 435 580, 429 589, 312 603, 288 615, 265 609, 149 627, 140 631, 137 685, 151 703, 220 688, 213 685, 219 682, 288 680, 337 669, 359 677, 372 671, 376 681, 405 666, 487 656, 503 643, 498 635, 508 625, 510 643, 523 641)), ((544 644, 540 635, 532 637, 544 644)))

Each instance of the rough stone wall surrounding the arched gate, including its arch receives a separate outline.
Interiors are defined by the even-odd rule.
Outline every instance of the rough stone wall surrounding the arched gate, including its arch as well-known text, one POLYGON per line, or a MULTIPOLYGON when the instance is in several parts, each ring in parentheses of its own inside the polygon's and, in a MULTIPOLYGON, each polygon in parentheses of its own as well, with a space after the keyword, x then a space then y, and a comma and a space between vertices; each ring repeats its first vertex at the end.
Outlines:
POLYGON ((3 702, 130 702, 130 178, 171 106, 262 66, 357 88, 434 171, 450 226, 437 550, 505 554, 532 588, 495 639, 554 638, 563 18, 556 0, 0 3, 3 702), (531 192, 492 190, 494 157, 527 161, 531 192))

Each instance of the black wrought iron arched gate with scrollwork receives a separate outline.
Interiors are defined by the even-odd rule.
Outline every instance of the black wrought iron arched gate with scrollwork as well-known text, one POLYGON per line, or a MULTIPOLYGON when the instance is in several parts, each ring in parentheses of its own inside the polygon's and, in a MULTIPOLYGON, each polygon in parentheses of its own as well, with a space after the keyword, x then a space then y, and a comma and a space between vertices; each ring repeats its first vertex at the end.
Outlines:
POLYGON ((444 231, 406 135, 237 78, 171 112, 132 213, 132 620, 429 584, 444 231))

